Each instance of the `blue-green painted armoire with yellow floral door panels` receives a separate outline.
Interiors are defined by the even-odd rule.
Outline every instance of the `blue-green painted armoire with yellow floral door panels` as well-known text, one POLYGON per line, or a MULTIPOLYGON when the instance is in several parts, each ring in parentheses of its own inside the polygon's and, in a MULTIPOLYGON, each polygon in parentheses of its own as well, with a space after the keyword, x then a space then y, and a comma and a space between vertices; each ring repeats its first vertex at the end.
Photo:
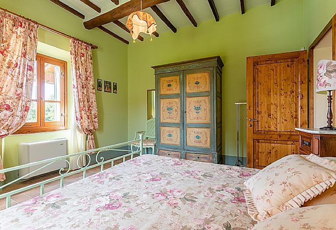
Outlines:
POLYGON ((153 66, 155 154, 222 161, 222 68, 219 56, 153 66))

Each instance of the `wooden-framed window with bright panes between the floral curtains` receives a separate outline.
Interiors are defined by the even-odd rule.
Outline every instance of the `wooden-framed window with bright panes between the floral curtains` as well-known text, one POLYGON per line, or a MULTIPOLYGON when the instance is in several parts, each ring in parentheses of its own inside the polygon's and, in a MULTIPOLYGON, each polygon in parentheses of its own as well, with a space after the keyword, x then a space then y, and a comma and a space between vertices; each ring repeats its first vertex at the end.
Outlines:
POLYGON ((37 54, 32 103, 26 123, 15 134, 67 128, 67 62, 37 54))

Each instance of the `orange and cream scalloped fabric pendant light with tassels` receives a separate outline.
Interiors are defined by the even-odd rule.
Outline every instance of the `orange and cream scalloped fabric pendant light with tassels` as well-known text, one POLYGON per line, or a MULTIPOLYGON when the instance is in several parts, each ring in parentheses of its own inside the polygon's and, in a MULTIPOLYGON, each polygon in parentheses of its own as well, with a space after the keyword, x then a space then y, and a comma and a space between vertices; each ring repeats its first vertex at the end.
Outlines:
POLYGON ((142 11, 142 0, 140 0, 140 11, 131 13, 126 26, 131 31, 133 43, 140 33, 149 34, 150 41, 152 41, 152 33, 156 31, 156 22, 150 14, 142 11))

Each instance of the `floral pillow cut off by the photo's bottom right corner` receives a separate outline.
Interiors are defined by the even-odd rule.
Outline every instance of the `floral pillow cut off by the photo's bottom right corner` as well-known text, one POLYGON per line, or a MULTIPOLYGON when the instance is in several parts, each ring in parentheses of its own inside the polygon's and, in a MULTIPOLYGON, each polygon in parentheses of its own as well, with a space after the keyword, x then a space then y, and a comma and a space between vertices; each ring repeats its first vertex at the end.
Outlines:
POLYGON ((252 230, 332 230, 336 226, 336 205, 292 209, 259 222, 252 230))

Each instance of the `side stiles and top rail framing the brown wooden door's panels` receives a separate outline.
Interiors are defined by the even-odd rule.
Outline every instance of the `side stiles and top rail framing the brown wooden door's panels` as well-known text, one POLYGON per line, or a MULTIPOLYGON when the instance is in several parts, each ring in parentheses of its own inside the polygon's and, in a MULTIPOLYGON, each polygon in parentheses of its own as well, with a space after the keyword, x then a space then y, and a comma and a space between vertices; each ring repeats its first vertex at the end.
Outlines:
MULTIPOLYGON (((255 119, 253 114, 253 90, 254 88, 254 65, 255 63, 261 61, 272 61, 277 59, 290 59, 299 58, 299 126, 308 127, 308 75, 307 75, 307 51, 296 51, 280 54, 262 55, 255 57, 246 58, 246 115, 247 115, 247 137, 246 137, 246 147, 247 147, 247 167, 254 168, 254 140, 253 140, 253 128, 254 121, 249 121, 249 119, 255 119)), ((299 136, 298 136, 299 140, 299 136)), ((299 148, 299 145, 298 145, 299 148)))

